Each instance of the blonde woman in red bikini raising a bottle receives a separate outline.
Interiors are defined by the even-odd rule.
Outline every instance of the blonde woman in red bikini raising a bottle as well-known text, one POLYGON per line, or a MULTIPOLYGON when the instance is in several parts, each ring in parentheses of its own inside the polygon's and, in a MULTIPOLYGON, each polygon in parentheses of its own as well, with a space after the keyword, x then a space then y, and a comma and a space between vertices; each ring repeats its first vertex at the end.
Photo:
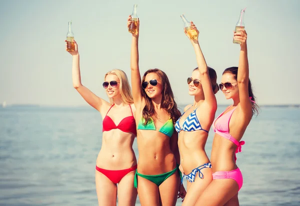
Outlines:
POLYGON ((79 53, 73 56, 73 86, 83 99, 98 110, 103 119, 102 145, 96 160, 95 183, 98 205, 135 205, 137 190, 133 187, 136 158, 132 143, 136 136, 135 107, 124 71, 113 69, 104 76, 103 87, 110 102, 96 96, 81 84, 79 53), (117 185, 118 183, 118 185, 117 185))

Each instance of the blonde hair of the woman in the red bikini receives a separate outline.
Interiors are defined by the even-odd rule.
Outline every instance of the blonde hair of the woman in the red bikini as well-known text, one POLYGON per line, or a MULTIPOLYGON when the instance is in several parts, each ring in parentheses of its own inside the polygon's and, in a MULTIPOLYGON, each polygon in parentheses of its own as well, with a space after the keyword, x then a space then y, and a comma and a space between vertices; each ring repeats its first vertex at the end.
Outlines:
MULTIPOLYGON (((123 99, 123 103, 132 104, 133 103, 133 97, 132 97, 132 94, 131 94, 131 88, 130 88, 126 73, 124 71, 122 71, 121 69, 112 69, 111 71, 108 71, 105 74, 104 80, 105 80, 105 78, 108 74, 114 74, 118 77, 118 79, 120 81, 119 90, 120 90, 121 97, 123 99)), ((109 102, 112 104, 113 99, 109 98, 109 102)))

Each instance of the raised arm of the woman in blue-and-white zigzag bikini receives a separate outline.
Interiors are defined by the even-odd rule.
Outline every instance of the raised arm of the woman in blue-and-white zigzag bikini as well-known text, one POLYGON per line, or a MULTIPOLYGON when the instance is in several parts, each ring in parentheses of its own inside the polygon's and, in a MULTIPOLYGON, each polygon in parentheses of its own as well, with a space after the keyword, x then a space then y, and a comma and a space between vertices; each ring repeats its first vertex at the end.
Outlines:
MULTIPOLYGON (((199 34, 199 31, 196 28, 195 24, 192 21, 190 23, 191 23, 191 29, 195 30, 197 32, 197 34, 199 34)), ((184 32, 186 34, 185 28, 184 28, 184 32)), ((198 39, 196 39, 196 40, 190 39, 190 42, 191 42, 191 44, 194 48, 195 54, 196 54, 198 70, 200 73, 200 81, 202 84, 205 101, 212 108, 216 109, 216 98, 215 98, 215 95, 214 95, 212 87, 211 87, 209 71, 208 71, 207 64, 206 64, 205 58, 203 56, 202 50, 200 48, 198 39)))

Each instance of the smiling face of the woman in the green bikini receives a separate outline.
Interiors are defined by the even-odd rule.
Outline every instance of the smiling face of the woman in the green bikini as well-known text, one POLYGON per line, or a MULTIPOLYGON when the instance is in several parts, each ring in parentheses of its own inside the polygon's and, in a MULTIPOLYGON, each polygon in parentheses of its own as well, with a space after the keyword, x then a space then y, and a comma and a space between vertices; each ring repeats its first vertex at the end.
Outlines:
POLYGON ((144 81, 148 82, 147 87, 144 88, 144 91, 146 92, 148 97, 155 98, 155 97, 158 97, 159 95, 161 95, 162 85, 161 85, 161 80, 160 80, 160 77, 158 74, 156 74, 154 72, 147 73, 144 81), (151 83, 149 83, 149 81, 153 80, 153 79, 157 80, 156 85, 152 85, 151 83))

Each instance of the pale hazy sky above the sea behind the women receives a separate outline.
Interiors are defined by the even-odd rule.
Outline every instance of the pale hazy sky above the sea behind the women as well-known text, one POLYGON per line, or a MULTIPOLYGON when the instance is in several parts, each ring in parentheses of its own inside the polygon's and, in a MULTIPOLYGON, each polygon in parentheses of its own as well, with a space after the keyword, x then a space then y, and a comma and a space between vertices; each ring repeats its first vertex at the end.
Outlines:
MULTIPOLYGON (((186 78, 196 65, 183 32, 184 13, 199 30, 208 66, 237 66, 232 31, 246 7, 249 77, 258 104, 300 104, 300 0, 0 0, 0 103, 87 105, 72 86, 65 51, 67 22, 78 43, 82 84, 107 99, 104 74, 119 68, 130 81, 131 34, 126 19, 137 4, 139 67, 163 70, 177 104, 193 102, 186 78)), ((230 104, 222 92, 218 104, 230 104)))

